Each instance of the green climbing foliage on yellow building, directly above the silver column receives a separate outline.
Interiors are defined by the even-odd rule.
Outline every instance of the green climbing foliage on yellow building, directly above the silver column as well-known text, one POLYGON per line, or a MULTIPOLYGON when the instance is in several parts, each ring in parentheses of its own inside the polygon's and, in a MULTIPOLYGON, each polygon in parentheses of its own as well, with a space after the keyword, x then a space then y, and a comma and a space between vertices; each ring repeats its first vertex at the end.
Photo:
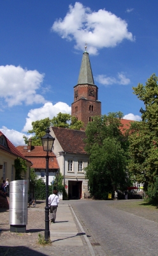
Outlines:
POLYGON ((15 180, 24 179, 24 175, 27 172, 26 161, 24 159, 18 157, 14 161, 14 166, 15 166, 15 180))

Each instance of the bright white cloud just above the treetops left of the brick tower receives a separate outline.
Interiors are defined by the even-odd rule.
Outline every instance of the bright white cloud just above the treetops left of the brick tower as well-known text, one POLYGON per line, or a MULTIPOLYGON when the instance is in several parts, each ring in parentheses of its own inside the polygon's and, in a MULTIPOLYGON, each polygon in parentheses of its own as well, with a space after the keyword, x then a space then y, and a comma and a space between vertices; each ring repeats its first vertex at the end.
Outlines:
POLYGON ((47 117, 53 118, 54 116, 57 116, 59 112, 71 114, 71 107, 64 102, 57 102, 55 105, 51 102, 47 102, 41 108, 31 109, 27 114, 29 117, 26 118, 26 123, 22 131, 27 132, 28 130, 31 130, 32 122, 47 117))

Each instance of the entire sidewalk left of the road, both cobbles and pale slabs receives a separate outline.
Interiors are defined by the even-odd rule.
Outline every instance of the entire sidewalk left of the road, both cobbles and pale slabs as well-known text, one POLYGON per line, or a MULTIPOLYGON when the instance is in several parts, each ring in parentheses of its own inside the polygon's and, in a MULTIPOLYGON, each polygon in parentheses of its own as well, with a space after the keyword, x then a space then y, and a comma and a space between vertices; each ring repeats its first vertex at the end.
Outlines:
POLYGON ((45 234, 45 202, 28 209, 26 233, 12 233, 9 211, 0 212, 0 255, 95 255, 89 239, 67 201, 60 200, 55 223, 50 223, 52 243, 41 246, 38 234, 45 234))

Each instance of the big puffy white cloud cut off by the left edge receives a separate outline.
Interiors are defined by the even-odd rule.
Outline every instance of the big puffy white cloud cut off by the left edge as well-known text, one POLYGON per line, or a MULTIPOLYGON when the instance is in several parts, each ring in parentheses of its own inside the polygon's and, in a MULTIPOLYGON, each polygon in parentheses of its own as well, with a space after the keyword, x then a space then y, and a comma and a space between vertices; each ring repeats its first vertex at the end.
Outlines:
POLYGON ((41 87, 44 74, 37 70, 27 70, 20 66, 0 66, 0 97, 8 106, 45 103, 43 96, 36 93, 41 87))

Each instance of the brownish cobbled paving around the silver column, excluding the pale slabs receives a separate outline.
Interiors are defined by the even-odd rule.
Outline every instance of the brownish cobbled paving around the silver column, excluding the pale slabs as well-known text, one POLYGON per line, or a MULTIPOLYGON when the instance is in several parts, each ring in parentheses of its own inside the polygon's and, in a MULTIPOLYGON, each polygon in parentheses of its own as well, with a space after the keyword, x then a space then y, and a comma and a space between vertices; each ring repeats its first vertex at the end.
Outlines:
MULTIPOLYGON (((68 204, 68 202, 66 204, 68 204)), ((37 243, 38 234, 44 236, 45 202, 40 201, 38 202, 37 207, 28 209, 26 233, 10 232, 9 211, 4 209, 0 209, 0 228, 2 229, 2 232, 0 232, 1 256, 90 255, 89 248, 83 237, 83 246, 54 246, 54 244, 41 246, 37 243)), ((79 227, 78 232, 81 232, 79 227)))

